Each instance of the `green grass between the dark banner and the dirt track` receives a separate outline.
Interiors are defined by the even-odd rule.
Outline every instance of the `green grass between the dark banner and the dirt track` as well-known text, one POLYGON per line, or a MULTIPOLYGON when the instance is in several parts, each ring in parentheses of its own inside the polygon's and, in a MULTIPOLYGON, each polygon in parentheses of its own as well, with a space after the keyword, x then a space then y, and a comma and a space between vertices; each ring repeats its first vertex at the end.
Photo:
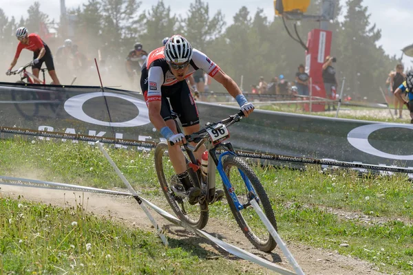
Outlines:
MULTIPOLYGON (((114 148, 108 152, 134 188, 165 203, 152 153, 114 148)), ((35 171, 43 180, 124 187, 100 151, 88 144, 1 140, 0 159, 0 175, 30 177, 27 171, 35 171)), ((375 263, 385 272, 413 274, 413 190, 406 175, 357 177, 351 170, 328 175, 320 166, 303 171, 254 169, 273 203, 279 233, 285 240, 338 250, 375 263), (382 222, 344 219, 335 211, 368 214, 382 222), (341 243, 349 246, 340 247, 341 243)), ((226 203, 215 203, 210 209, 213 219, 237 227, 226 203)))

